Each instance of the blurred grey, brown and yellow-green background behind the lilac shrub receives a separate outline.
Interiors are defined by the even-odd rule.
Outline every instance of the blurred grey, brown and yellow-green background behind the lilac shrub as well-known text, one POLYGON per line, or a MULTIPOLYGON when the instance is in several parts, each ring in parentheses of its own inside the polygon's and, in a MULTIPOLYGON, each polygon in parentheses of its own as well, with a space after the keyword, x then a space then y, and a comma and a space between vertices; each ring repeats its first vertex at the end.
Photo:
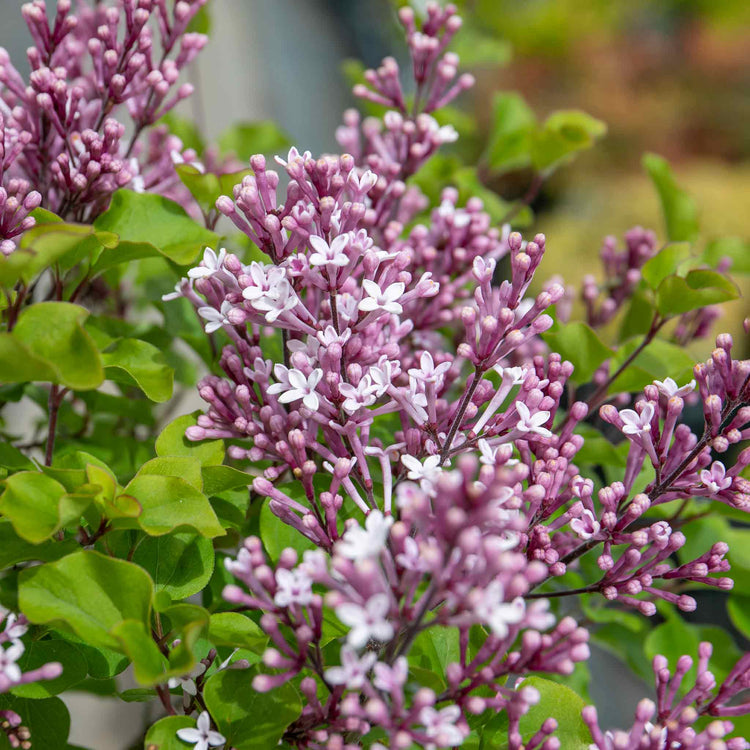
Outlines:
MULTIPOLYGON (((418 9, 420 3, 412 3, 418 9)), ((559 169, 533 201, 530 231, 548 236, 547 276, 577 284, 598 272, 607 234, 641 224, 663 237, 659 205, 641 168, 644 151, 669 159, 696 199, 707 239, 750 236, 750 3, 747 0, 464 0, 457 52, 477 77, 458 102, 464 162, 482 164, 496 91, 520 92, 540 120, 581 109, 608 134, 559 169)), ((2 44, 20 63, 29 43, 21 2, 0 3, 2 44)), ((196 95, 181 115, 208 141, 238 121, 272 120, 300 150, 336 149, 341 112, 355 104, 361 60, 404 59, 388 0, 211 0, 211 42, 191 71, 196 95)), ((484 184, 511 200, 526 193, 525 169, 484 184)), ((750 291, 747 288, 745 293, 750 291)), ((722 330, 739 332, 738 301, 722 330)), ((698 345, 697 356, 710 350, 698 345)), ((747 343, 745 344, 747 349, 747 343)), ((746 351, 746 354, 748 352, 746 351)), ((629 723, 645 686, 596 651, 591 692, 606 698, 603 723, 629 723), (604 689, 617 684, 617 691, 604 689), (613 695, 614 693, 614 695, 613 695)), ((155 709, 69 699, 71 742, 97 750, 135 747, 155 709)))

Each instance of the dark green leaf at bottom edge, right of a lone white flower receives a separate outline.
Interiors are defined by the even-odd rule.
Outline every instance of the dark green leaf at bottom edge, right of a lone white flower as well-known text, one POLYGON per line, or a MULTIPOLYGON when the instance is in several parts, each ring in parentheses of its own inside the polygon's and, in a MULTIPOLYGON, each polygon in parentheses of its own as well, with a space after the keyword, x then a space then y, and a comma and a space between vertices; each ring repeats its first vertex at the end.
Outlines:
POLYGON ((297 691, 286 683, 268 693, 252 690, 256 669, 217 672, 206 682, 206 708, 236 750, 273 750, 300 714, 297 691))

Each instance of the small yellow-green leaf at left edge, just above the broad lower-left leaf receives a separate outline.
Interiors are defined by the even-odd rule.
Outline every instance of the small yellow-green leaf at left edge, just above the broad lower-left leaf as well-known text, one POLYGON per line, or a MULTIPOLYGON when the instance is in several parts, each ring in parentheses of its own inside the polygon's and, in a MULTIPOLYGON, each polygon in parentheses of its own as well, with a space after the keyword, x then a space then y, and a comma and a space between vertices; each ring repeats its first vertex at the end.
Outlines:
POLYGON ((65 487, 45 474, 22 471, 5 480, 0 513, 13 524, 18 536, 39 544, 80 519, 92 501, 91 494, 68 494, 65 487))

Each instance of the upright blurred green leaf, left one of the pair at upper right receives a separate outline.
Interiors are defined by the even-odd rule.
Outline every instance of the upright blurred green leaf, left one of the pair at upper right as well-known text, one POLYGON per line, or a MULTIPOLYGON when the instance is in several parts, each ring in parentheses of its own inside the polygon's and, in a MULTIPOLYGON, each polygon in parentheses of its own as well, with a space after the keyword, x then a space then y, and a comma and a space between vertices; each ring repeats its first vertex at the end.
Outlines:
POLYGON ((507 172, 531 164, 531 135, 535 128, 536 116, 520 94, 496 93, 492 99, 492 126, 487 146, 490 167, 507 172))

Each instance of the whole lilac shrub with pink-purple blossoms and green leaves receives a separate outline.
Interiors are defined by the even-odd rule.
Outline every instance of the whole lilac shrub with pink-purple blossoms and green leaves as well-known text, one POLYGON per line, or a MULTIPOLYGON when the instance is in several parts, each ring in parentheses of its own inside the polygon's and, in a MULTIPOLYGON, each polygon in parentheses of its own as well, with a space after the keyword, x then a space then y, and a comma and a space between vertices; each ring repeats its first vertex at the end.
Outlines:
MULTIPOLYGON (((408 75, 365 72, 354 93, 379 114, 344 114, 342 153, 227 175, 156 125, 190 93, 203 4, 60 0, 51 18, 36 0, 29 83, 0 60, 0 351, 29 362, 0 362, 0 394, 49 417, 0 452, 11 746, 46 747, 22 726, 32 699, 52 716, 132 664, 121 697, 164 714, 149 750, 749 748, 748 654, 681 614, 745 572, 750 361, 726 333, 705 363, 684 351, 739 296, 738 256, 677 242, 665 200, 668 236, 607 238, 577 291, 518 231, 533 191, 507 221, 460 174, 431 200, 420 178, 459 136, 446 107, 474 83, 451 5, 399 12, 408 75), (160 270, 136 289, 109 274, 144 258, 160 270), (145 307, 175 268, 146 330, 125 297, 145 307), (117 315, 75 304, 98 274, 117 315), (160 430, 167 355, 185 383, 196 358, 209 374, 203 412, 160 430), (625 730, 588 693, 591 645, 613 640, 655 683, 625 730)), ((603 132, 574 111, 528 127, 538 180, 603 132)))

